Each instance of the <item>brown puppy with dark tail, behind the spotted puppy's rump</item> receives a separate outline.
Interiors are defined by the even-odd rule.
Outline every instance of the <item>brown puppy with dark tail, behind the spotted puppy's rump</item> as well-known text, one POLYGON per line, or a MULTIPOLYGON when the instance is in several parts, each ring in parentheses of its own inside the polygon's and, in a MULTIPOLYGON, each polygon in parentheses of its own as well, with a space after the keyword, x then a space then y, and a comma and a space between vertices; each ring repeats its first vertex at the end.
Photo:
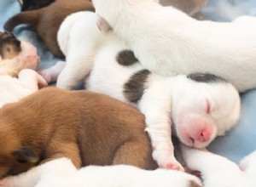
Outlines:
POLYGON ((67 15, 79 11, 94 11, 90 0, 55 0, 44 8, 24 11, 10 18, 4 25, 6 31, 13 31, 15 26, 28 24, 35 28, 49 50, 58 57, 64 55, 57 42, 57 31, 67 15))

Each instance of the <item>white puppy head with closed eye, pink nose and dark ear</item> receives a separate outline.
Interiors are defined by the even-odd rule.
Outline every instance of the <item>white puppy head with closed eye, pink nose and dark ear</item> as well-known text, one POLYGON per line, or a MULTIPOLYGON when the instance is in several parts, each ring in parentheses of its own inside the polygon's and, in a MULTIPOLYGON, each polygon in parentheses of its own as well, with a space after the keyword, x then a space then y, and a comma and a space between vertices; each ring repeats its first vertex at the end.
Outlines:
POLYGON ((234 127, 240 116, 240 96, 229 82, 210 74, 177 77, 172 98, 172 122, 177 137, 188 146, 206 147, 234 127))

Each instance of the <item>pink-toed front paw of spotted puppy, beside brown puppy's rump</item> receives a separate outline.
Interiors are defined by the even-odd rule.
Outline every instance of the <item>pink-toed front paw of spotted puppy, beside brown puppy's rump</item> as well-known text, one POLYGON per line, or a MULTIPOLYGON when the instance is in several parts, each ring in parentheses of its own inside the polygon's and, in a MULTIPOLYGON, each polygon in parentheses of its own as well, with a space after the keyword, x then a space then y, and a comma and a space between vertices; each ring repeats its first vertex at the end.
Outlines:
POLYGON ((154 149, 153 158, 161 168, 184 171, 183 166, 176 160, 172 150, 154 149))

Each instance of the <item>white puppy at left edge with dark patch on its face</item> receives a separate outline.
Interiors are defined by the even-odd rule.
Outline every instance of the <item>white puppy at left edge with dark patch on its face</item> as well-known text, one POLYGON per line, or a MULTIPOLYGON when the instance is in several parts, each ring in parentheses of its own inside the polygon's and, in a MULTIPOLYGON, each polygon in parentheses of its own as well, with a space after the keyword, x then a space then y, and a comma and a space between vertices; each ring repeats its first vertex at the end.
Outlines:
POLYGON ((35 71, 38 63, 37 49, 32 44, 0 32, 0 107, 47 85, 35 71))

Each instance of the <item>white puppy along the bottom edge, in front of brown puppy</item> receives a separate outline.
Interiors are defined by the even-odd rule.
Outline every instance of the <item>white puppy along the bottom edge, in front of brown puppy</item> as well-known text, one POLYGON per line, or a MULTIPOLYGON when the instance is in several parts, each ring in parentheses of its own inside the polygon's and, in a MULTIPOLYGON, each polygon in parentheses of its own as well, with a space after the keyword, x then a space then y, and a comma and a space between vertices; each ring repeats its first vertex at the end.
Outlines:
POLYGON ((72 161, 59 158, 34 167, 27 173, 15 177, 3 178, 3 187, 201 187, 199 178, 188 173, 157 169, 146 171, 138 167, 89 166, 77 170, 72 161))

